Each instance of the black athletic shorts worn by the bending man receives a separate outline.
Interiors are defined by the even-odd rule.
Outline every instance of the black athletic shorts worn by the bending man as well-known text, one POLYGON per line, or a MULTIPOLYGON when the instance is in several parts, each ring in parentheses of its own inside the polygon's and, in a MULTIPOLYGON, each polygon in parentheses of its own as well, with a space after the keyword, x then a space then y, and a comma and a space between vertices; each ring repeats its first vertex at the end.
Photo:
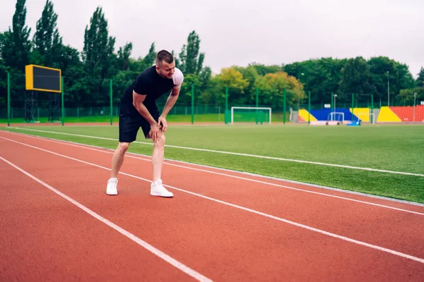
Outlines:
MULTIPOLYGON (((158 121, 160 116, 158 107, 154 105, 146 106, 146 108, 155 121, 158 121)), ((135 141, 140 128, 143 130, 144 137, 150 139, 148 135, 151 130, 150 123, 148 123, 138 111, 134 111, 134 109, 134 106, 132 106, 131 109, 131 107, 124 102, 121 102, 119 105, 119 142, 131 143, 135 141)))

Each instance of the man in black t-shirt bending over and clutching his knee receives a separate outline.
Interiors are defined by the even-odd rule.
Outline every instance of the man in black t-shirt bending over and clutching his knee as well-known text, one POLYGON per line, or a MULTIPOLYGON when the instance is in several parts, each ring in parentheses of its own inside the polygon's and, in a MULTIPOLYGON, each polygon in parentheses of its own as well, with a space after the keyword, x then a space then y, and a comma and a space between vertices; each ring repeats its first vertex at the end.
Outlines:
POLYGON ((153 140, 153 180, 151 195, 173 197, 172 192, 162 185, 161 173, 167 130, 166 116, 178 99, 184 75, 175 68, 170 52, 162 50, 156 55, 155 66, 146 68, 126 88, 119 108, 119 144, 112 157, 112 173, 107 181, 107 195, 117 195, 118 173, 124 162, 129 144, 136 140, 139 128, 146 139, 153 140), (159 114, 155 100, 170 92, 162 114, 159 114))

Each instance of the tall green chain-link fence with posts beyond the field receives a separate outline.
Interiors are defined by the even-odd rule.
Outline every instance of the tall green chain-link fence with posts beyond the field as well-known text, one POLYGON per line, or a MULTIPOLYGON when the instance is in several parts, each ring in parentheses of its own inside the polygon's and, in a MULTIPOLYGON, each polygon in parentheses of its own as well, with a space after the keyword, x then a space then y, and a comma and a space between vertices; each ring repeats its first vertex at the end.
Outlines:
MULTIPOLYGON (((25 75, 10 73, 1 77, 1 123, 117 123, 119 101, 131 79, 89 79, 64 77, 63 94, 25 89, 25 75), (63 96, 62 96, 63 95, 63 96), (10 98, 9 98, 10 97, 10 98), (63 102, 62 102, 63 100, 63 102)), ((163 110, 169 93, 157 104, 163 110)), ((393 95, 394 96, 394 95, 393 95)), ((411 106, 410 97, 394 96, 390 106, 411 106)), ((415 101, 414 101, 415 103, 415 101)), ((387 100, 373 94, 315 93, 309 90, 267 89, 249 91, 225 85, 199 86, 186 83, 167 116, 168 122, 182 123, 288 123, 308 122, 310 112, 328 109, 330 113, 347 109, 375 118, 375 109, 387 100), (367 109, 367 110, 366 110, 367 109), (305 116, 305 113, 308 116, 305 116)), ((329 114, 329 118, 332 118, 329 114)))

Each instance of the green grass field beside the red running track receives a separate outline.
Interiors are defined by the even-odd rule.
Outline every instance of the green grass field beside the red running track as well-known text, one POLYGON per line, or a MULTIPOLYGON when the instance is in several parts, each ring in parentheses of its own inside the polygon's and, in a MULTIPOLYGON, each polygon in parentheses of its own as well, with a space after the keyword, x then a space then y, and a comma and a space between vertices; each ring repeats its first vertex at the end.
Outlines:
MULTIPOLYGON (((423 125, 172 125, 167 131, 165 158, 265 176, 366 192, 424 203, 424 176, 326 166, 338 164, 424 174, 423 125), (201 152, 191 148, 320 162, 305 164, 281 159, 201 152)), ((106 126, 37 126, 1 128, 19 133, 69 140, 114 149, 118 128, 106 126), (26 130, 30 129, 30 130, 26 130), (35 131, 41 130, 41 131, 35 131), (68 133, 61 135, 57 133, 68 133), (75 135, 111 138, 102 140, 75 135)), ((151 155, 150 140, 141 135, 129 151, 151 155)), ((228 188, 231 189, 231 188, 228 188)))

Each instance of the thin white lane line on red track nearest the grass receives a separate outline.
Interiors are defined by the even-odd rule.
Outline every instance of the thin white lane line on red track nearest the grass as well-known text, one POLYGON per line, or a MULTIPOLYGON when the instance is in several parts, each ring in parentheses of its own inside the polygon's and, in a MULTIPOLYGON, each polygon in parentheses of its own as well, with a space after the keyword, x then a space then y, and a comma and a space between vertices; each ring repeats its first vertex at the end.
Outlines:
MULTIPOLYGON (((105 153, 105 154, 113 154, 113 152, 107 152, 107 151, 102 150, 102 149, 95 149, 95 148, 91 148, 91 147, 75 145, 75 144, 71 144, 71 143, 65 142, 65 141, 62 142, 62 141, 56 141, 56 140, 49 140, 49 139, 46 139, 46 138, 43 138, 43 137, 35 137, 33 135, 28 135, 28 137, 32 137, 34 139, 39 139, 39 140, 45 140, 45 141, 49 141, 49 142, 54 142, 54 143, 59 143, 59 144, 62 144, 62 145, 69 145, 69 146, 79 147, 79 148, 83 148, 83 149, 90 149, 90 150, 93 150, 93 151, 96 151, 96 152, 102 152, 102 153, 105 153)), ((2 138, 5 138, 5 137, 2 137, 2 138)), ((135 157, 135 156, 131 156, 131 154, 127 154, 126 157, 129 157, 129 158, 132 158, 132 159, 139 159, 139 160, 142 160, 142 161, 151 161, 151 159, 144 159, 144 158, 141 158, 141 157, 135 157)), ((397 208, 397 207, 390 207, 390 206, 387 206, 387 205, 384 205, 384 204, 375 204, 375 203, 372 203, 372 202, 365 202, 365 201, 361 201, 361 200, 351 199, 351 198, 348 198, 348 197, 329 195, 329 194, 322 193, 322 192, 314 192, 314 191, 304 190, 304 189, 300 189, 300 188, 294 188, 294 187, 290 187, 290 186, 286 186, 286 185, 269 183, 269 182, 265 182, 265 181, 261 181, 261 180, 254 180, 254 179, 245 178, 245 177, 241 177, 241 176, 232 176, 230 174, 219 173, 219 172, 216 172, 216 171, 208 171, 206 169, 201 169, 201 168, 192 168, 192 167, 189 167, 189 166, 181 166, 181 165, 178 165, 178 164, 169 164, 166 161, 164 161, 163 164, 166 164, 168 166, 177 166, 177 167, 180 167, 180 168, 187 168, 187 169, 191 169, 193 171, 201 171, 201 172, 212 173, 212 174, 216 174, 216 175, 220 175, 220 176, 227 176, 227 177, 230 177, 230 178, 237 178, 237 179, 241 179, 241 180, 252 181, 254 183, 271 185, 271 186, 275 186, 275 187, 278 187, 278 188, 285 188, 285 189, 289 189, 289 190, 307 192, 307 193, 311 193, 311 194, 315 194, 315 195, 322 195, 322 196, 325 196, 325 197, 334 197, 336 199, 347 200, 347 201, 351 201, 351 202, 359 202, 361 204, 370 204, 370 205, 375 206, 375 207, 383 207, 383 208, 386 208, 386 209, 394 209, 394 210, 399 211, 399 212, 408 212, 408 213, 411 213, 411 214, 419 214, 421 216, 424 216, 424 213, 422 213, 422 212, 414 212, 414 211, 410 211, 408 209, 400 209, 400 208, 397 208)))

